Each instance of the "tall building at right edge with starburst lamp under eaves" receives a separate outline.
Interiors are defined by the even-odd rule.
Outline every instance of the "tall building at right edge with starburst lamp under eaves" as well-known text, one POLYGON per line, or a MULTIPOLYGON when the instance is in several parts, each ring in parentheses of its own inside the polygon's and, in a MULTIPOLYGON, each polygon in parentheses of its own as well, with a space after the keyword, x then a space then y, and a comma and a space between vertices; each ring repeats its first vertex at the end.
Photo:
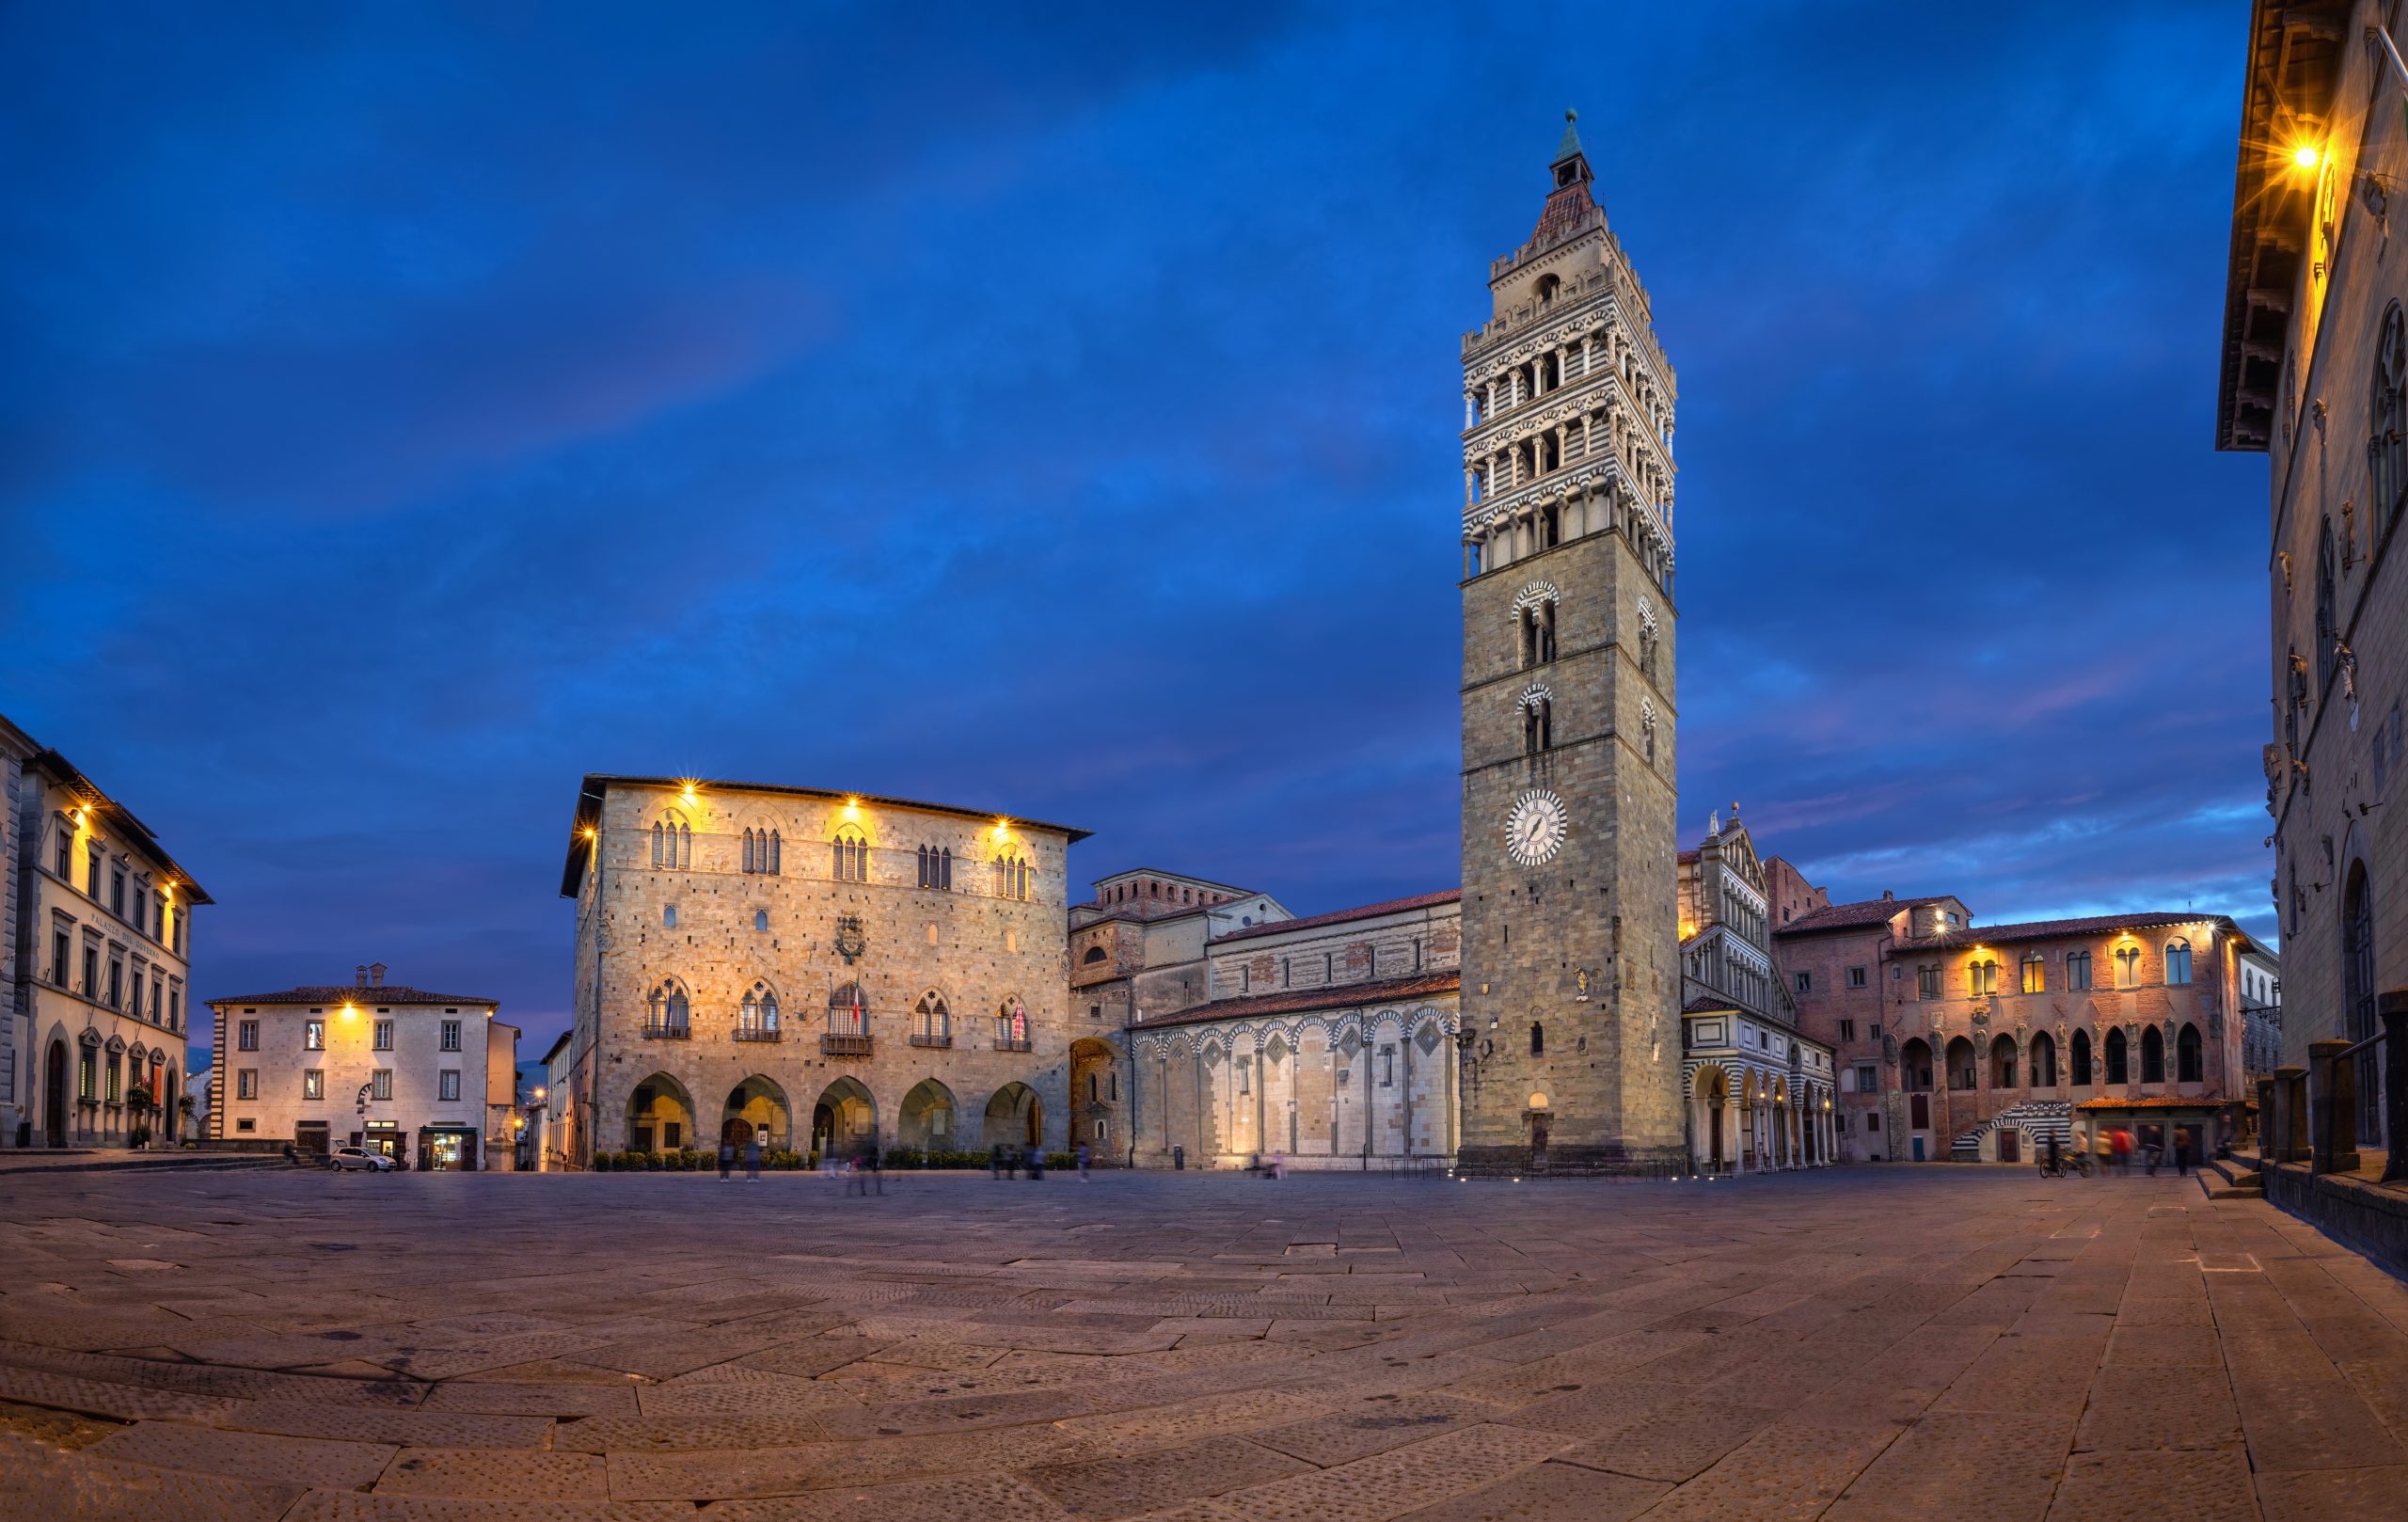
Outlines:
MULTIPOLYGON (((2283 1062, 2377 1031, 2408 987, 2408 181, 2374 0, 2256 5, 2242 94, 2215 443, 2271 462, 2273 898, 2283 1062)), ((2374 1055, 2357 1139, 2382 1144, 2374 1055)))

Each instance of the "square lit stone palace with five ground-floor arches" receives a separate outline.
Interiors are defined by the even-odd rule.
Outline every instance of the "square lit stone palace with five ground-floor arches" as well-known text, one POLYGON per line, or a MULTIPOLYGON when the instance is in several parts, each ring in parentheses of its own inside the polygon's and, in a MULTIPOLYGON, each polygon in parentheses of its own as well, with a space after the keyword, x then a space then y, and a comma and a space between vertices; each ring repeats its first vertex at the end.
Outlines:
MULTIPOLYGON (((816 787, 590 775, 563 1156, 1060 1149, 1079 1055, 1067 850, 1086 831, 816 787)), ((1081 1011, 1084 1014, 1084 1011, 1081 1011)))

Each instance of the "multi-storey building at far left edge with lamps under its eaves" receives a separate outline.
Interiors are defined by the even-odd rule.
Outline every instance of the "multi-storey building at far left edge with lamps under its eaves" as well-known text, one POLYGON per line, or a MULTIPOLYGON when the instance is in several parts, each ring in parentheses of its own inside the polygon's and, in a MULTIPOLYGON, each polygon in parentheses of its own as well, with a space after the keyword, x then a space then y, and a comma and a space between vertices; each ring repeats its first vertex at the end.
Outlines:
POLYGON ((5 718, 0 783, 0 1144, 171 1146, 193 908, 209 896, 132 809, 5 718))

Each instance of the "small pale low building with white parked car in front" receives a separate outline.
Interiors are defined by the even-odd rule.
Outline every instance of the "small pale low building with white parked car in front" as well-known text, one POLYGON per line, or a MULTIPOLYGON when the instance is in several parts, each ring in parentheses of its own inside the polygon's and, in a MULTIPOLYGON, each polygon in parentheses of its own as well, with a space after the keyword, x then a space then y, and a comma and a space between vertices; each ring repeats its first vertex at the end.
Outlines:
POLYGON ((209 999, 209 1093, 224 1096, 209 1105, 212 1144, 366 1146, 412 1168, 510 1168, 518 1028, 494 1019, 494 999, 385 983, 385 966, 371 963, 352 983, 209 999))

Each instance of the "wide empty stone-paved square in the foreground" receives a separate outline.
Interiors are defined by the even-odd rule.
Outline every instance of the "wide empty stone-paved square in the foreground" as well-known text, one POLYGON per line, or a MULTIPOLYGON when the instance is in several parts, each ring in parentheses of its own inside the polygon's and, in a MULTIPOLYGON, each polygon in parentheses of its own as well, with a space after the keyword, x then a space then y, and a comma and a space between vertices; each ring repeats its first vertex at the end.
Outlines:
POLYGON ((0 1178, 0 1517, 2398 1520, 2194 1180, 0 1178))

